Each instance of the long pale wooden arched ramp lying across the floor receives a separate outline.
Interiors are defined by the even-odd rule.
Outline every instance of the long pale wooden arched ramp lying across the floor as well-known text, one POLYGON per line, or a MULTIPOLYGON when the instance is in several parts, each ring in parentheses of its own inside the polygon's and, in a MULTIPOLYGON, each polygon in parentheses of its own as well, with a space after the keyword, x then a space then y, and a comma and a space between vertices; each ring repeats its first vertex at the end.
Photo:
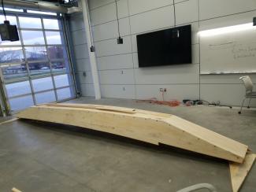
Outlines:
MULTIPOLYGON (((243 162, 247 153, 248 146, 178 116, 139 109, 136 109, 135 113, 124 113, 117 110, 91 109, 90 105, 88 106, 87 108, 83 105, 83 108, 80 108, 74 104, 41 105, 26 109, 17 116, 85 127, 155 145, 163 143, 238 163, 243 162)), ((109 109, 109 106, 107 108, 109 109)))

